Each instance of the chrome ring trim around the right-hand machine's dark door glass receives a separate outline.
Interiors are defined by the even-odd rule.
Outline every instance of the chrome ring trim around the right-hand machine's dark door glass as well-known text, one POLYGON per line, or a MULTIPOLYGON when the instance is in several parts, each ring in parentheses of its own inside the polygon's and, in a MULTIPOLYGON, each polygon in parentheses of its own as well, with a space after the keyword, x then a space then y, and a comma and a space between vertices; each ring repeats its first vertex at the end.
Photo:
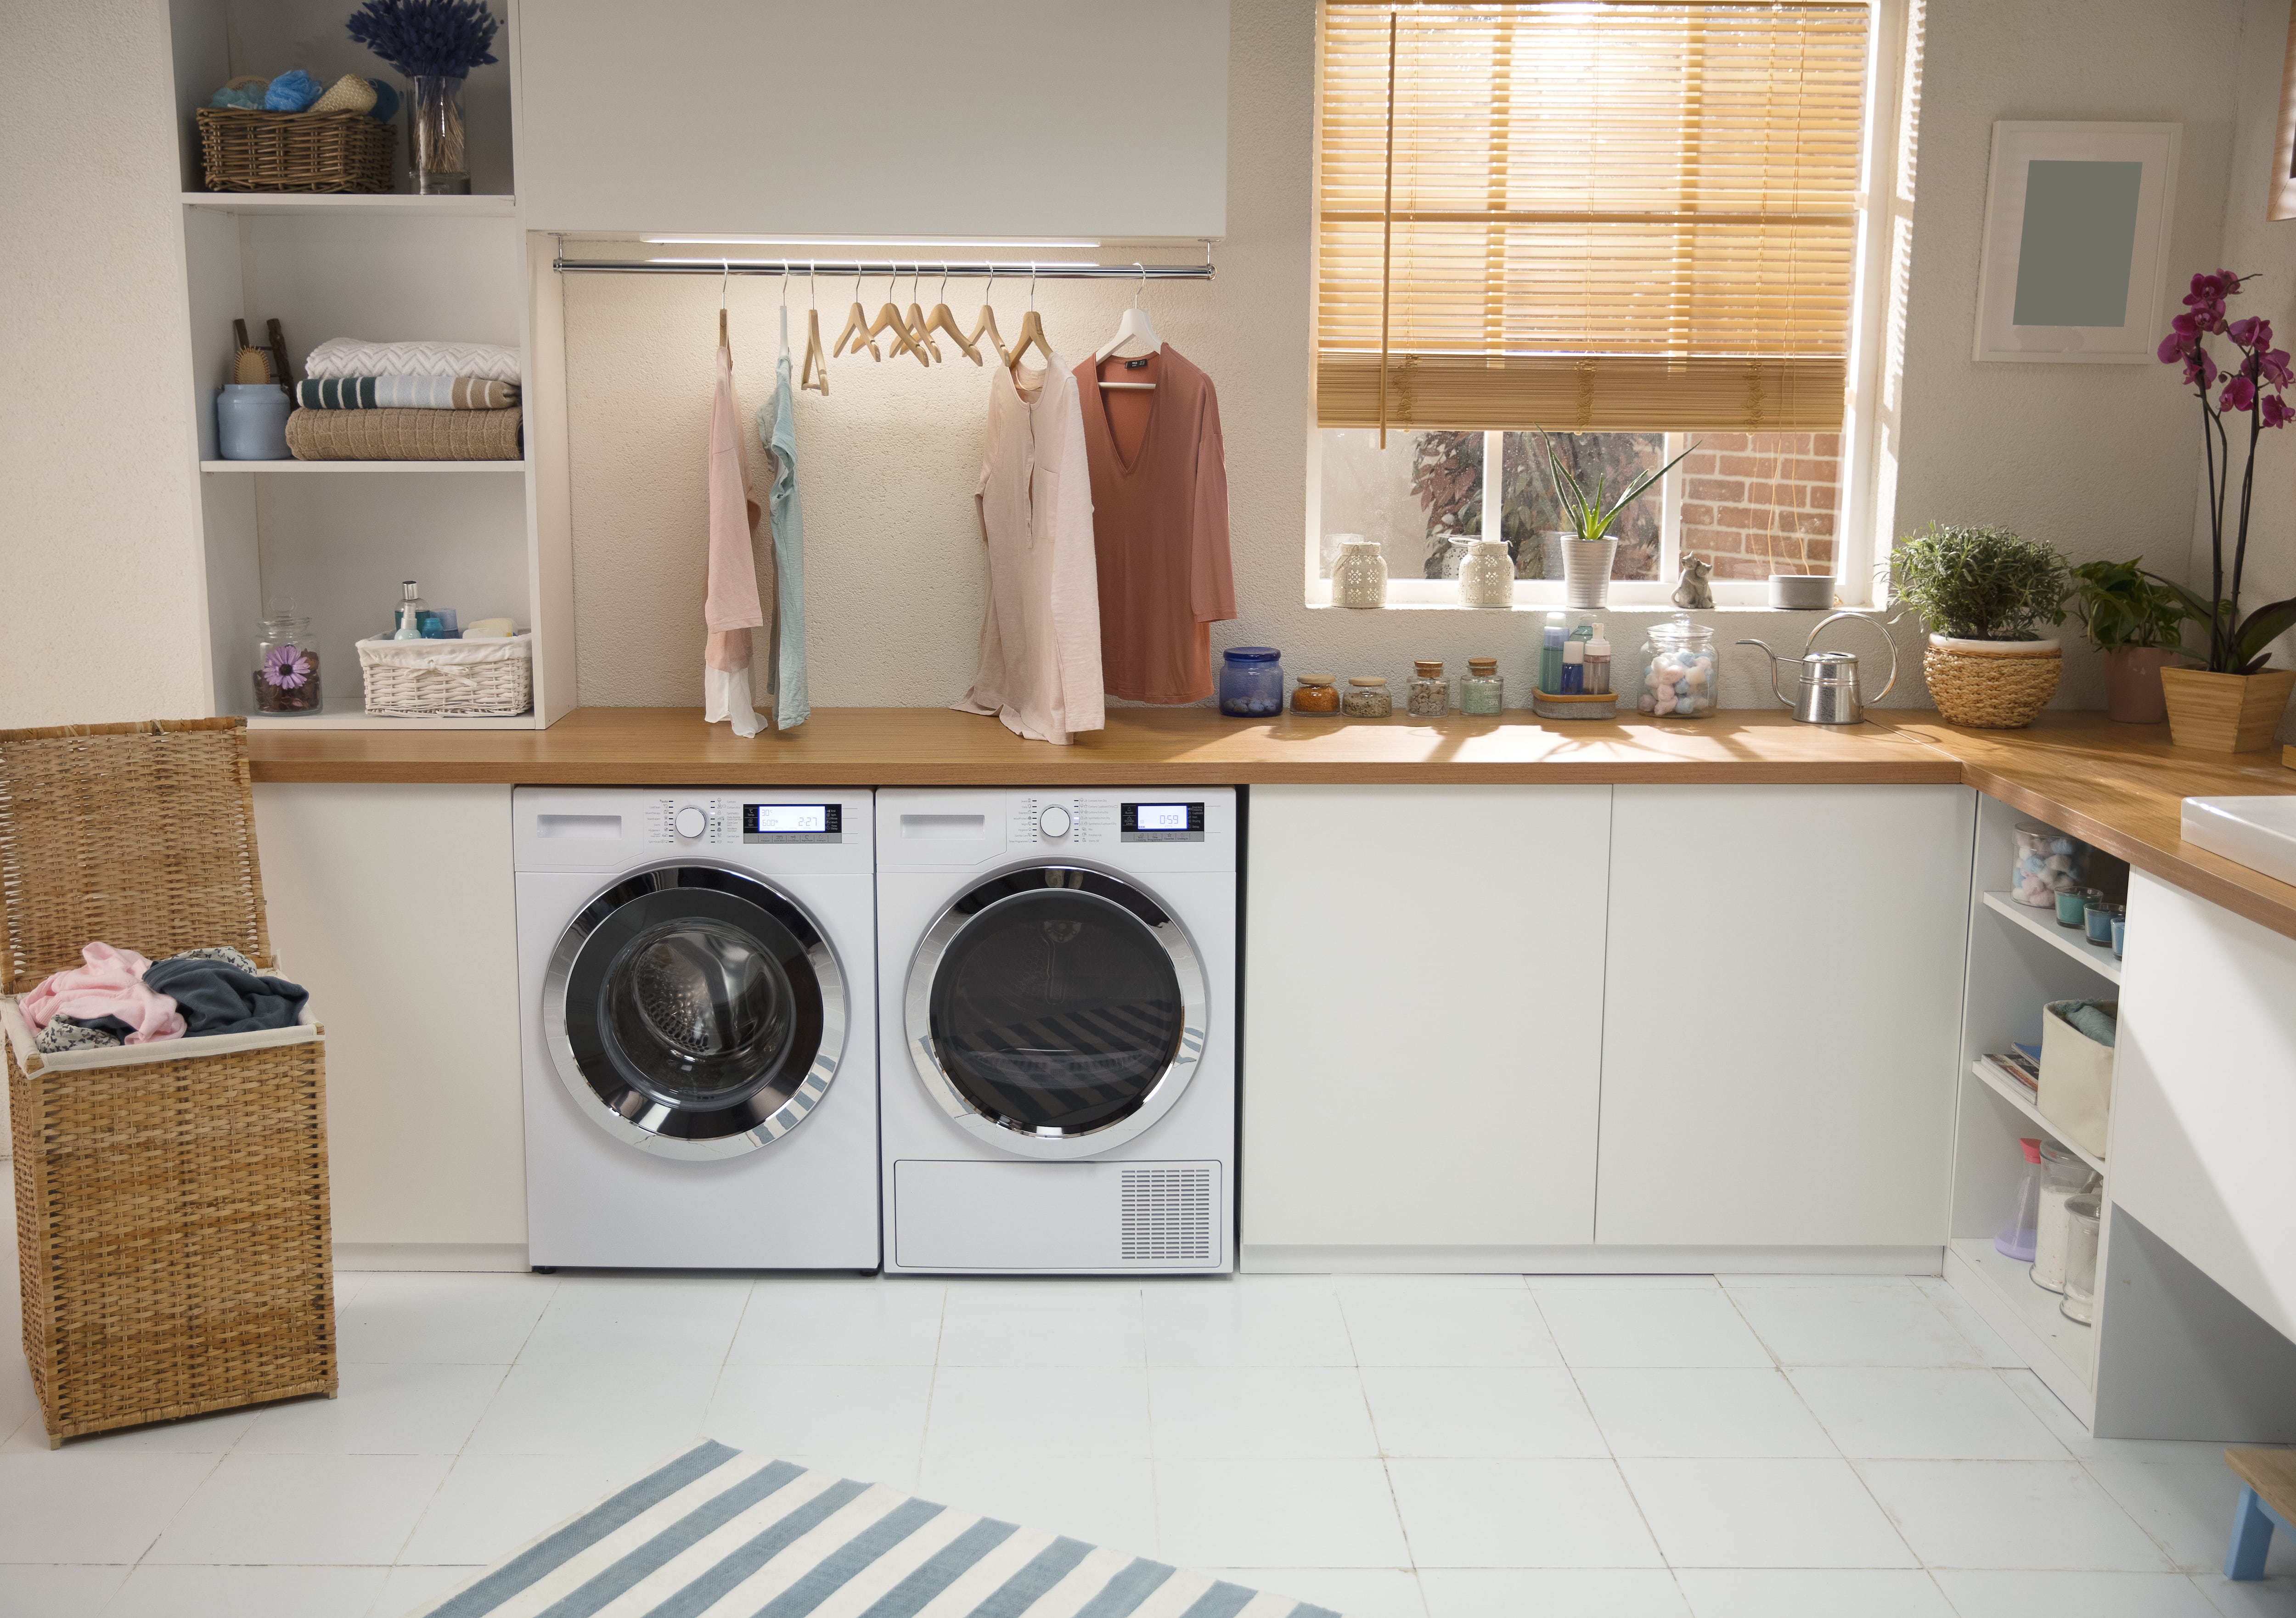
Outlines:
POLYGON ((1153 1129, 1187 1090, 1189 1079, 1196 1076, 1196 1063, 1203 1060, 1208 1021, 1203 962, 1196 955, 1196 943, 1187 936, 1180 920, 1143 893, 1130 877, 1118 877, 1116 872, 1100 870, 1097 865, 1013 865, 964 888, 964 893, 951 900, 941 913, 932 918, 932 925, 925 927, 925 936, 916 943, 916 955, 909 957, 902 1021, 909 1047, 909 1065, 916 1067, 916 1076, 923 1081, 925 1092, 941 1106, 953 1125, 974 1138, 1017 1157, 1097 1157, 1100 1152, 1109 1152, 1153 1129), (1070 888, 1095 897, 1102 904, 1114 904, 1116 909, 1127 911, 1134 920, 1148 927, 1150 936, 1155 936, 1155 941, 1164 948, 1164 955, 1171 959, 1173 975, 1180 980, 1180 1037, 1173 1042, 1173 1051, 1164 1060, 1164 1072, 1157 1074, 1155 1083, 1148 1086, 1148 1095, 1143 1095, 1141 1104, 1130 1113, 1100 1125, 1097 1129, 1084 1129, 1077 1134, 1061 1129, 1022 1129, 983 1113, 948 1076, 948 1069, 941 1065, 941 1056, 932 1044, 932 980, 939 975, 948 946, 955 943, 957 934, 962 934, 978 916, 994 909, 1001 900, 1019 897, 1024 893, 1042 893, 1045 888, 1070 888))

